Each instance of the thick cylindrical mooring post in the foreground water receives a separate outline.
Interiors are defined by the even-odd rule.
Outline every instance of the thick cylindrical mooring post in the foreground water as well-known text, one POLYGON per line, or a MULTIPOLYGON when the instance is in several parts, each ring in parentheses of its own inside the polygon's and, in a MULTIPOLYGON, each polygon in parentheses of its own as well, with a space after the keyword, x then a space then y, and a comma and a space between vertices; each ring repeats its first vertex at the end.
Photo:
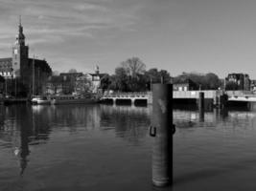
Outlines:
POLYGON ((173 84, 152 85, 152 183, 173 184, 173 84))

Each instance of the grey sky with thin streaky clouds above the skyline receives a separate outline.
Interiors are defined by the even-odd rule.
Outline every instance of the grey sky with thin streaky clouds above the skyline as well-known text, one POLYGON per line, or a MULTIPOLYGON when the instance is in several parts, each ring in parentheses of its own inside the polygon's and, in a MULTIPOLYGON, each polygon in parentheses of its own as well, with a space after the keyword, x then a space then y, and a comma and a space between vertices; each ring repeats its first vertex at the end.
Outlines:
POLYGON ((255 0, 0 0, 0 57, 18 16, 30 56, 54 71, 114 73, 138 56, 147 69, 256 78, 255 0))

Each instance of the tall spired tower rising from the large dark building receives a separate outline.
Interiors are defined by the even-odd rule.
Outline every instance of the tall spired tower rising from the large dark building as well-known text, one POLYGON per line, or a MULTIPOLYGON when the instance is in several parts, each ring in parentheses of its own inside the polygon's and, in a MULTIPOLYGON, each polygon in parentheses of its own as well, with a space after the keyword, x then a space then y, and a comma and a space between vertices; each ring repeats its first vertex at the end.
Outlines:
POLYGON ((12 47, 12 75, 13 77, 22 77, 23 72, 28 67, 29 47, 25 45, 25 35, 19 17, 18 34, 12 47))

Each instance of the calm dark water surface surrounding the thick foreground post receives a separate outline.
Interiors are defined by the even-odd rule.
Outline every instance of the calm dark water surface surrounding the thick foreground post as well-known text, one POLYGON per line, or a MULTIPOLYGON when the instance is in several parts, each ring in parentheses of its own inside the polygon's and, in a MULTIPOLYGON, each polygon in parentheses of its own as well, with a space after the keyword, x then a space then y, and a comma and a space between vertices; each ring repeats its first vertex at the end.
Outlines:
POLYGON ((0 190, 255 190, 256 112, 175 110, 174 187, 151 185, 151 108, 0 107, 0 190))

